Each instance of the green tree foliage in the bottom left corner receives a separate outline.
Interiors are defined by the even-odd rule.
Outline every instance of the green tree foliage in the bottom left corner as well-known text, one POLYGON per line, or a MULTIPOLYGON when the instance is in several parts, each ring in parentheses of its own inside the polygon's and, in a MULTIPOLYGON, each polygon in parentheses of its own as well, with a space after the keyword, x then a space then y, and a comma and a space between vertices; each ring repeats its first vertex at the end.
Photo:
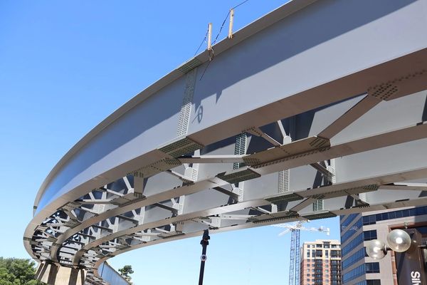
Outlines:
POLYGON ((34 279, 35 266, 30 259, 0 257, 0 285, 41 285, 34 279))

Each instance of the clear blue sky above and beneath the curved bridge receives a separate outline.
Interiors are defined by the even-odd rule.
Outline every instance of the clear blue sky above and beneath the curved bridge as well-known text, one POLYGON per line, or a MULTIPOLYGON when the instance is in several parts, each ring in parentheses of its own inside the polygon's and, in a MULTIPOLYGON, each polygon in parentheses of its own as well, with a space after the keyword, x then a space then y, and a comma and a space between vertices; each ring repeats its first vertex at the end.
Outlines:
MULTIPOLYGON (((0 1, 0 256, 28 258, 38 187, 65 152, 135 94, 191 58, 238 1, 0 1)), ((285 1, 251 0, 236 29, 285 1)), ((220 38, 226 36, 223 30, 220 38)), ((203 48, 206 48, 205 46, 203 48)), ((337 219, 316 221, 339 239, 337 219)), ((312 226, 312 225, 308 225, 312 226)), ((204 284, 288 282, 290 236, 260 227, 212 236, 204 284)), ((302 232, 302 241, 326 238, 302 232)), ((110 259, 135 284, 196 284, 200 238, 110 259)))

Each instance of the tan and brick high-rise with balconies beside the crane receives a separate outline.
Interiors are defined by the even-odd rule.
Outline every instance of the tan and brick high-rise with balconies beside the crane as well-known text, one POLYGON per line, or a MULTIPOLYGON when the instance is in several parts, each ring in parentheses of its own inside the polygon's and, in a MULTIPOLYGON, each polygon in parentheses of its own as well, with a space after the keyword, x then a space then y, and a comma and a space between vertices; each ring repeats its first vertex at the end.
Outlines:
POLYGON ((341 245, 334 239, 304 242, 301 251, 301 285, 341 283, 341 245))

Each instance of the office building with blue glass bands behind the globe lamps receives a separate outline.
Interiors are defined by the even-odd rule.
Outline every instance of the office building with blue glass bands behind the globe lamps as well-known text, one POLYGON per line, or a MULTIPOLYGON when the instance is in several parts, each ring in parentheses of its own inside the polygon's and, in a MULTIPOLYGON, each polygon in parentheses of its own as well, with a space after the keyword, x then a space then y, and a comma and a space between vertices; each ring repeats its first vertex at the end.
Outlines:
POLYGON ((365 252, 371 239, 386 241, 392 229, 416 228, 427 235, 427 206, 388 209, 340 217, 343 285, 397 285, 394 252, 371 259, 365 252))

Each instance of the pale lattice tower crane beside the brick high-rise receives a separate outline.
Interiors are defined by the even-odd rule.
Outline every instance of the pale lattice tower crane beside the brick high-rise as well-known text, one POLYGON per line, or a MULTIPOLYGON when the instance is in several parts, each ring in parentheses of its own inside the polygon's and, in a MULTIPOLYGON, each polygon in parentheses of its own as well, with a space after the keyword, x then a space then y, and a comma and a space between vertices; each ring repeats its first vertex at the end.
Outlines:
POLYGON ((308 220, 302 220, 293 224, 273 224, 273 227, 283 227, 285 230, 280 232, 279 237, 290 232, 290 266, 289 266, 289 285, 300 285, 300 232, 301 229, 310 232, 325 232, 330 235, 330 228, 325 227, 302 227, 308 220))

